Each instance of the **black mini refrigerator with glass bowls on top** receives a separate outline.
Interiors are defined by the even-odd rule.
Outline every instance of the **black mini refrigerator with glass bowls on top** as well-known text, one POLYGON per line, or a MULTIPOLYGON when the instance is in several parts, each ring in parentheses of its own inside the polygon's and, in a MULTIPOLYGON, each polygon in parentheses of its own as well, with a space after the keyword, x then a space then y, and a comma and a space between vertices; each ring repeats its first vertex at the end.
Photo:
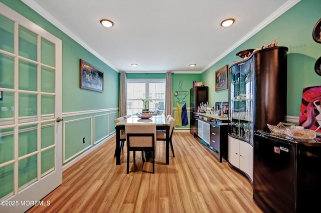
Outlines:
POLYGON ((265 212, 320 212, 321 138, 255 131, 253 200, 265 212))

